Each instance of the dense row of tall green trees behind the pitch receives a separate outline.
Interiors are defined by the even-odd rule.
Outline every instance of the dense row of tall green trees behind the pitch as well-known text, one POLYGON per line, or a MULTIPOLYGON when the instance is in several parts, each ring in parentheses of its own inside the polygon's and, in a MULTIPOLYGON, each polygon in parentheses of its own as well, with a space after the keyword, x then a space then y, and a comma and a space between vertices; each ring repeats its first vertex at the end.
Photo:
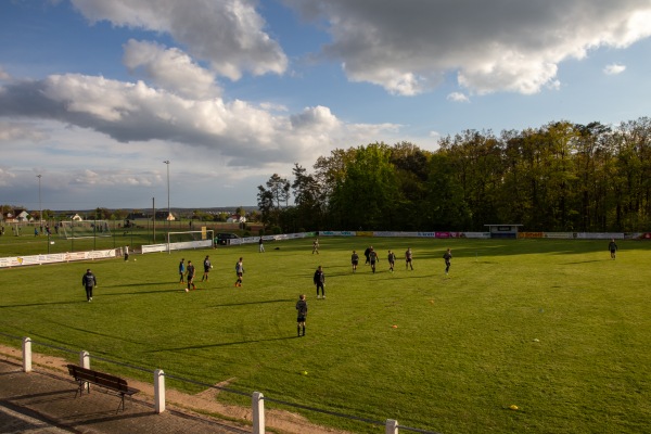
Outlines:
POLYGON ((651 230, 651 119, 467 130, 416 144, 336 149, 258 187, 267 227, 299 230, 651 230), (293 204, 290 204, 293 196, 293 204))

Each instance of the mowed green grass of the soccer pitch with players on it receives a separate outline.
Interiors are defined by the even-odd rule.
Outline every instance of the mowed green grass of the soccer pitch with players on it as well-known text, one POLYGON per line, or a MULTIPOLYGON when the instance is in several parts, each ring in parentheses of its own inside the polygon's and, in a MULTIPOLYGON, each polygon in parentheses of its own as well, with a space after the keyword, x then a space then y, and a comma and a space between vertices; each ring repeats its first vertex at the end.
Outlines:
MULTIPOLYGON (((1 270, 0 331, 446 434, 651 431, 651 244, 620 241, 611 260, 608 241, 320 241, 320 255, 306 239, 267 243, 265 254, 245 245, 1 270), (371 244, 381 257, 375 275, 363 265, 371 244), (405 269, 408 246, 413 271, 405 269), (454 259, 446 278, 448 246, 454 259), (362 257, 356 275, 354 248, 362 257), (399 257, 394 273, 388 248, 399 257), (202 283, 206 254, 215 268, 202 283), (244 285, 234 288, 240 256, 244 285), (199 291, 186 293, 177 283, 181 257, 197 266, 199 291), (316 299, 311 281, 319 265, 327 299, 316 299), (92 303, 81 286, 87 267, 99 279, 92 303), (301 293, 309 314, 307 335, 297 339, 301 293)), ((145 372, 106 367, 151 381, 145 372)), ((201 390, 171 379, 167 384, 201 390)), ((220 399, 248 405, 233 394, 220 399)), ((384 431, 299 412, 353 432, 384 431)))

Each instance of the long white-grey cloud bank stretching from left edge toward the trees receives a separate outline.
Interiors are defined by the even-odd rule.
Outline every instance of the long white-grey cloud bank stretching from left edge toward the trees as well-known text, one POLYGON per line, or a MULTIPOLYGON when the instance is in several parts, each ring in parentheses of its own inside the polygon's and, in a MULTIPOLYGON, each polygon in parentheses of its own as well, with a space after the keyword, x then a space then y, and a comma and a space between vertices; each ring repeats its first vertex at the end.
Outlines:
MULTIPOLYGON (((324 144, 349 145, 350 137, 357 138, 360 130, 358 125, 337 119, 326 106, 278 115, 264 104, 182 98, 142 81, 79 74, 5 86, 0 92, 0 116, 55 119, 118 142, 139 143, 143 155, 148 154, 146 143, 180 143, 241 168, 309 161, 323 152, 324 144)), ((391 124, 365 126, 366 132, 374 129, 376 136, 391 135, 396 128, 391 124)), ((87 182, 93 179, 88 174, 81 178, 87 182)))

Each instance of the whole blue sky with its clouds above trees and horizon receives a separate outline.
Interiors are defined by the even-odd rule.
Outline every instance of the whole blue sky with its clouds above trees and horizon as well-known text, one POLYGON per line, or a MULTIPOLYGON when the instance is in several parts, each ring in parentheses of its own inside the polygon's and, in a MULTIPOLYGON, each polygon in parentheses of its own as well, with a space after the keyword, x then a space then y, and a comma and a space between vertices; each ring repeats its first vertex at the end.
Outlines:
POLYGON ((252 206, 334 149, 617 126, 650 37, 651 0, 2 0, 0 204, 252 206))

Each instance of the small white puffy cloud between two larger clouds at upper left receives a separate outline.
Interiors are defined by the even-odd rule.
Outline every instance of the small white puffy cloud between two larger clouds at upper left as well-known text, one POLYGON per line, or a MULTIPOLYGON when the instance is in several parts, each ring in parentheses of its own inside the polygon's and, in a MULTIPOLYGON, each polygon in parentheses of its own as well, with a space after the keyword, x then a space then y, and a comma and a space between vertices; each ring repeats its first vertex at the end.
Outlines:
POLYGON ((148 41, 129 40, 124 63, 131 73, 144 72, 153 82, 169 92, 193 99, 218 97, 215 75, 192 62, 181 50, 148 41))

